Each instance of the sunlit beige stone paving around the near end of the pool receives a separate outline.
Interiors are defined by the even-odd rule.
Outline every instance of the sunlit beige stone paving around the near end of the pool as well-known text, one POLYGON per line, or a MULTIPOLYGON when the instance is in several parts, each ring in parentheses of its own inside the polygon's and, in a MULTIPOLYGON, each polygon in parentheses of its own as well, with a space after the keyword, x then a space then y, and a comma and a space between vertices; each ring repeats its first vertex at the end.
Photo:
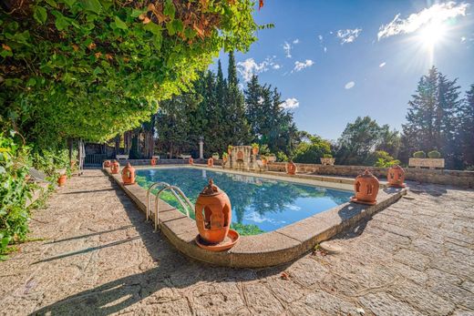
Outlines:
POLYGON ((374 219, 262 270, 174 250, 99 170, 37 210, 0 262, 0 314, 474 315, 474 191, 417 186, 374 219), (283 274, 283 277, 282 277, 283 274))

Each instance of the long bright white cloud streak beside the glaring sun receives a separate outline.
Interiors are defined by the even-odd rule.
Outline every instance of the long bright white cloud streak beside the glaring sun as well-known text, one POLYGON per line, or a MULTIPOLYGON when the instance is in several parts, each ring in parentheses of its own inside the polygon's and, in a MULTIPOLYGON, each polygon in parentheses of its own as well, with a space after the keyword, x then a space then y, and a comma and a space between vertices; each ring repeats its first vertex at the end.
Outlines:
POLYGON ((409 15, 406 19, 400 18, 400 14, 395 15, 392 22, 381 25, 378 29, 378 40, 384 37, 397 36, 399 34, 409 34, 428 24, 441 24, 450 18, 459 15, 465 16, 469 4, 457 5, 454 1, 431 5, 418 13, 409 15))

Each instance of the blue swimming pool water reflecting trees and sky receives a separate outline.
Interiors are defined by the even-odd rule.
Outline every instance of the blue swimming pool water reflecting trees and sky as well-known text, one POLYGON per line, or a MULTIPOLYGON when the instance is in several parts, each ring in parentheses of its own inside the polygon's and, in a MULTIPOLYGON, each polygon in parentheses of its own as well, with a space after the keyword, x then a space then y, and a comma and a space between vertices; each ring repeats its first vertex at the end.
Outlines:
MULTIPOLYGON (((140 186, 148 188, 152 182, 167 182, 182 189, 192 203, 210 178, 231 199, 232 228, 244 235, 282 228, 343 204, 353 195, 350 191, 201 168, 154 168, 137 171, 140 186)), ((173 206, 179 206, 170 195, 162 197, 173 206)))

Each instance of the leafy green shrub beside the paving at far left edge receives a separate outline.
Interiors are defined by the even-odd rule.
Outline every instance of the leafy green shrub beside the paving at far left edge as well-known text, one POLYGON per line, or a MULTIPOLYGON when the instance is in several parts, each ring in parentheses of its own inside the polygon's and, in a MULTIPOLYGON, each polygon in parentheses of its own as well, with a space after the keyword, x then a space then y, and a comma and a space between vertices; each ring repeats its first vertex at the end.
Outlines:
POLYGON ((9 244, 26 239, 26 199, 33 189, 26 180, 29 148, 18 145, 13 136, 0 134, 0 260, 10 251, 9 244))

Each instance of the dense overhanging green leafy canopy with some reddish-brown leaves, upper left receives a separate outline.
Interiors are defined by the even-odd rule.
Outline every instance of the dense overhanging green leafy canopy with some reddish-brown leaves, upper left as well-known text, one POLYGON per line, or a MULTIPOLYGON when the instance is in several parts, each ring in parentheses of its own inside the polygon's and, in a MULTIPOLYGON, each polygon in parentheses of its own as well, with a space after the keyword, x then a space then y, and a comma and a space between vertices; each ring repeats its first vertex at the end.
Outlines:
POLYGON ((15 5, 0 11, 0 117, 43 148, 138 127, 259 28, 250 0, 15 5))

